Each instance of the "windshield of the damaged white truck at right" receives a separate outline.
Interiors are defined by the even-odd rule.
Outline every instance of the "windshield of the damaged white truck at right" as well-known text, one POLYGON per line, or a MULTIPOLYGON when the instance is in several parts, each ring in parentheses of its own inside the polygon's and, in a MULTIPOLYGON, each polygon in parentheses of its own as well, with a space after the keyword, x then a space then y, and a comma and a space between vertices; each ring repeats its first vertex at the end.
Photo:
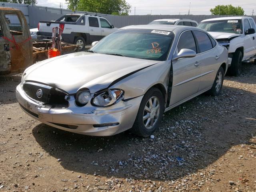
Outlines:
POLYGON ((204 21, 200 22, 197 27, 210 32, 242 34, 241 22, 240 19, 204 21))

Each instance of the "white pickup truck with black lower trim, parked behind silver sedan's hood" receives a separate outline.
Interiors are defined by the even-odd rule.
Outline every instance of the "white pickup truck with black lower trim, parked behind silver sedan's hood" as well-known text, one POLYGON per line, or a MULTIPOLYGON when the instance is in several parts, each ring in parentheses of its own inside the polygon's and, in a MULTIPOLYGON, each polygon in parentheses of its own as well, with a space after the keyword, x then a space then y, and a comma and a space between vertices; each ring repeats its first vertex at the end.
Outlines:
POLYGON ((37 38, 51 39, 52 28, 54 27, 62 28, 63 42, 78 44, 79 50, 83 50, 86 44, 98 41, 118 29, 100 16, 68 14, 55 21, 40 21, 38 23, 37 38))

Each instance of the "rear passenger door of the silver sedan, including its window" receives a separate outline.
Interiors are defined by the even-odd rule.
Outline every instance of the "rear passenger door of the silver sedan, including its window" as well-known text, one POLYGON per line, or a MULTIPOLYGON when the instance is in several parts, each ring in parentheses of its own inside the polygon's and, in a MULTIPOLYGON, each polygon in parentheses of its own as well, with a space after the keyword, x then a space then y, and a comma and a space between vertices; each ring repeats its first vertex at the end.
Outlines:
POLYGON ((218 71, 218 66, 221 65, 219 61, 220 53, 215 40, 208 36, 208 34, 198 30, 193 30, 193 33, 198 44, 199 54, 201 56, 200 65, 202 74, 200 77, 199 86, 199 91, 201 91, 212 86, 218 71))

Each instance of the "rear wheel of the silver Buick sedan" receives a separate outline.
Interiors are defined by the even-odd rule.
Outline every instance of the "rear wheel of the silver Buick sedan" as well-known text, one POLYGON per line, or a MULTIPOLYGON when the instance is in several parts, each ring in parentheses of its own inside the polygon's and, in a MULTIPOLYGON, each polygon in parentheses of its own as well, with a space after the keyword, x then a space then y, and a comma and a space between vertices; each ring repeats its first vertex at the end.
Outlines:
POLYGON ((212 88, 207 93, 212 96, 219 95, 222 90, 223 80, 224 80, 224 70, 222 67, 220 67, 216 74, 212 88))

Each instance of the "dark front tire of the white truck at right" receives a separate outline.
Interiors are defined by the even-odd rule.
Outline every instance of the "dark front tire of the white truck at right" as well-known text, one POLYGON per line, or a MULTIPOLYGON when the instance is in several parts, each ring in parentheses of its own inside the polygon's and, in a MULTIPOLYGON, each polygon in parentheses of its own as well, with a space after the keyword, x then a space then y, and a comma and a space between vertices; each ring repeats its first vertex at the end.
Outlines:
POLYGON ((242 67, 242 52, 240 50, 236 50, 233 55, 232 62, 230 68, 228 68, 228 74, 232 76, 240 76, 241 67, 242 67))

